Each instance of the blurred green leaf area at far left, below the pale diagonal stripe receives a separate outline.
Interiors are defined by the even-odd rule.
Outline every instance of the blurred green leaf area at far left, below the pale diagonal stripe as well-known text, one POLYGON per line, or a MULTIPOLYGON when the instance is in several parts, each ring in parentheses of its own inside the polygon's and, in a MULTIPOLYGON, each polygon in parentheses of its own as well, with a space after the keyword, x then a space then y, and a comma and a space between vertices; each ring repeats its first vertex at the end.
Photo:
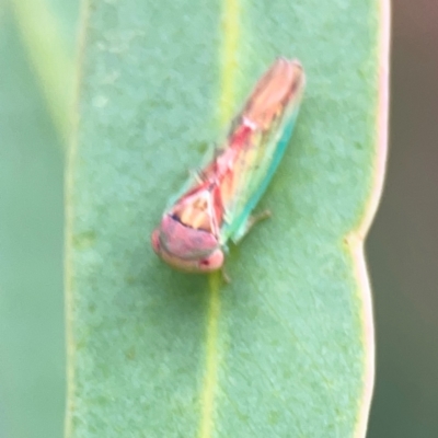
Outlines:
POLYGON ((0 436, 59 437, 64 157, 9 11, 0 78, 0 436))

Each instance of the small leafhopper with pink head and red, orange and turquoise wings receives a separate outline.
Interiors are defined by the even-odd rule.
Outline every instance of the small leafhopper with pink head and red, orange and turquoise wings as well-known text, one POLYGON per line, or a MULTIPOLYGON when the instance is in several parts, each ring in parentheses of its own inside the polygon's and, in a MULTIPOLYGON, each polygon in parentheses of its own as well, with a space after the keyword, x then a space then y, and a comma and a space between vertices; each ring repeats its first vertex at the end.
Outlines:
POLYGON ((226 140, 184 185, 152 232, 154 252, 192 273, 220 269, 262 216, 251 216, 289 142, 304 89, 298 60, 277 58, 231 123, 226 140))

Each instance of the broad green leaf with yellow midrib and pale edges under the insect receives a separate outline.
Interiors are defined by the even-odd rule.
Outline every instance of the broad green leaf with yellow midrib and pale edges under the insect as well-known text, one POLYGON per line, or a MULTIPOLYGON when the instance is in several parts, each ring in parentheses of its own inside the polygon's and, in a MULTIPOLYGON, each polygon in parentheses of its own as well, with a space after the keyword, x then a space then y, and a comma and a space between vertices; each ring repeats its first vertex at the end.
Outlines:
POLYGON ((373 379, 362 241, 385 155, 388 3, 91 1, 68 168, 72 437, 364 437, 373 379), (165 199, 258 76, 308 88, 224 285, 149 244, 165 199))

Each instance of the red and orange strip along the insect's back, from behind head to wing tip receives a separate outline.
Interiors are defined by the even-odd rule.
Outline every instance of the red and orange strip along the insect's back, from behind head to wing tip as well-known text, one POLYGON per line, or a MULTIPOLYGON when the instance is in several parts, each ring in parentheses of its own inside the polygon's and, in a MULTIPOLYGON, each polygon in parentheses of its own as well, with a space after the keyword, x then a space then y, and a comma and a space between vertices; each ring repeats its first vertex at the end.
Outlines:
POLYGON ((284 58, 277 59, 260 79, 223 148, 200 172, 201 181, 172 208, 185 226, 219 234, 226 207, 232 206, 233 197, 239 195, 241 200, 247 195, 242 195, 242 191, 261 152, 255 149, 262 145, 261 136, 275 126, 292 96, 302 89, 303 80, 301 66, 284 58))

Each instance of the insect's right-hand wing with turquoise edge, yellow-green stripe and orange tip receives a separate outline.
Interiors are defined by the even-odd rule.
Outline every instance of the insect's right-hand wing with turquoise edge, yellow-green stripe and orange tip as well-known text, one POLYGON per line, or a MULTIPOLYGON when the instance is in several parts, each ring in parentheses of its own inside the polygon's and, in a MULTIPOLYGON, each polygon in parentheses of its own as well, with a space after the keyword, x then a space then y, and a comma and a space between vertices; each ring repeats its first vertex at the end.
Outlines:
POLYGON ((228 137, 235 152, 223 178, 224 221, 221 241, 239 241, 250 215, 266 191, 289 142, 304 88, 298 61, 279 58, 262 77, 228 137), (242 139, 242 132, 246 137, 242 139), (235 147, 233 142, 241 141, 235 147), (231 182, 230 182, 231 181, 231 182), (227 185, 227 186, 224 186, 227 185))

